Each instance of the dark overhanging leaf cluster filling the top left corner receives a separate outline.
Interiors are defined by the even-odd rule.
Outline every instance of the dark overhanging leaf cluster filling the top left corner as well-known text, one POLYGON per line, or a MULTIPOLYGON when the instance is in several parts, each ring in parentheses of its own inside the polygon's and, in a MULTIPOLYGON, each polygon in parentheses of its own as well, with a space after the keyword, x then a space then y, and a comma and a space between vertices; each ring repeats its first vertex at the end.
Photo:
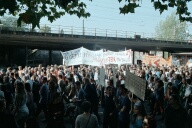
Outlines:
POLYGON ((66 13, 78 17, 88 17, 85 11, 86 5, 79 0, 0 0, 0 16, 7 11, 13 16, 19 15, 17 21, 21 26, 22 21, 40 28, 39 22, 42 17, 47 17, 50 22, 60 18, 66 13))

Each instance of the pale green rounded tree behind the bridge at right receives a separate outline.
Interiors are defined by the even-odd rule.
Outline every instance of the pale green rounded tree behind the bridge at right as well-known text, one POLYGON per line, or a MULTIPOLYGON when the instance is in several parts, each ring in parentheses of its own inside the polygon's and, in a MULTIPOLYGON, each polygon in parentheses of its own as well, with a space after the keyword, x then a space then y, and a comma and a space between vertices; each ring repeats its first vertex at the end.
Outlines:
POLYGON ((180 22, 177 15, 172 13, 164 21, 160 21, 155 28, 156 39, 185 40, 187 37, 187 24, 180 22))

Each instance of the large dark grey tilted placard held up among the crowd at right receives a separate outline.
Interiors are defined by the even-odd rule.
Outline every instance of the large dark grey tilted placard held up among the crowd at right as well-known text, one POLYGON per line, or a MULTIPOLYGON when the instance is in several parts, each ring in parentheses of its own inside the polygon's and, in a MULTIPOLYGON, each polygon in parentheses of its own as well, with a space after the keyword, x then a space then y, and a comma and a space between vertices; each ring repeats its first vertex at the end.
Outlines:
POLYGON ((129 71, 126 71, 125 87, 141 100, 145 99, 146 81, 129 71))

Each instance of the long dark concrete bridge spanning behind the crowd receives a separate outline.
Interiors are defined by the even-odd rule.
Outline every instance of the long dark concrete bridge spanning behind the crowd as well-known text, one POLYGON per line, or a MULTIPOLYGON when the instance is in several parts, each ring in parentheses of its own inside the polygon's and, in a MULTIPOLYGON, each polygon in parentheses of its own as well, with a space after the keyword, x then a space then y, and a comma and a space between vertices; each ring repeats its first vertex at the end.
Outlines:
MULTIPOLYGON (((24 50, 24 58, 27 59, 28 49, 68 51, 79 47, 90 50, 107 49, 123 50, 132 49, 133 51, 167 51, 169 53, 190 52, 192 43, 180 41, 163 41, 152 38, 122 38, 94 35, 77 34, 57 34, 57 33, 38 33, 21 31, 3 31, 0 33, 0 50, 8 52, 12 56, 14 49, 24 50)), ((8 57, 9 60, 9 57, 8 57)), ((51 57, 50 57, 51 60, 51 57)), ((50 62, 51 63, 51 62, 50 62)))

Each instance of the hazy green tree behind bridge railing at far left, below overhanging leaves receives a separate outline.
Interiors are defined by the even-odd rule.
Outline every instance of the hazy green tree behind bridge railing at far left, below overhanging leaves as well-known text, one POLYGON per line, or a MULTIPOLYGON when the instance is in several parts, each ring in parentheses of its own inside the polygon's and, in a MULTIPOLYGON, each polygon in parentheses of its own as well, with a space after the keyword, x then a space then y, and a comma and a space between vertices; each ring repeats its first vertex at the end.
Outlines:
POLYGON ((11 30, 11 31, 29 31, 27 24, 24 22, 21 23, 21 26, 17 26, 18 18, 13 16, 5 16, 0 19, 3 24, 2 30, 11 30))

